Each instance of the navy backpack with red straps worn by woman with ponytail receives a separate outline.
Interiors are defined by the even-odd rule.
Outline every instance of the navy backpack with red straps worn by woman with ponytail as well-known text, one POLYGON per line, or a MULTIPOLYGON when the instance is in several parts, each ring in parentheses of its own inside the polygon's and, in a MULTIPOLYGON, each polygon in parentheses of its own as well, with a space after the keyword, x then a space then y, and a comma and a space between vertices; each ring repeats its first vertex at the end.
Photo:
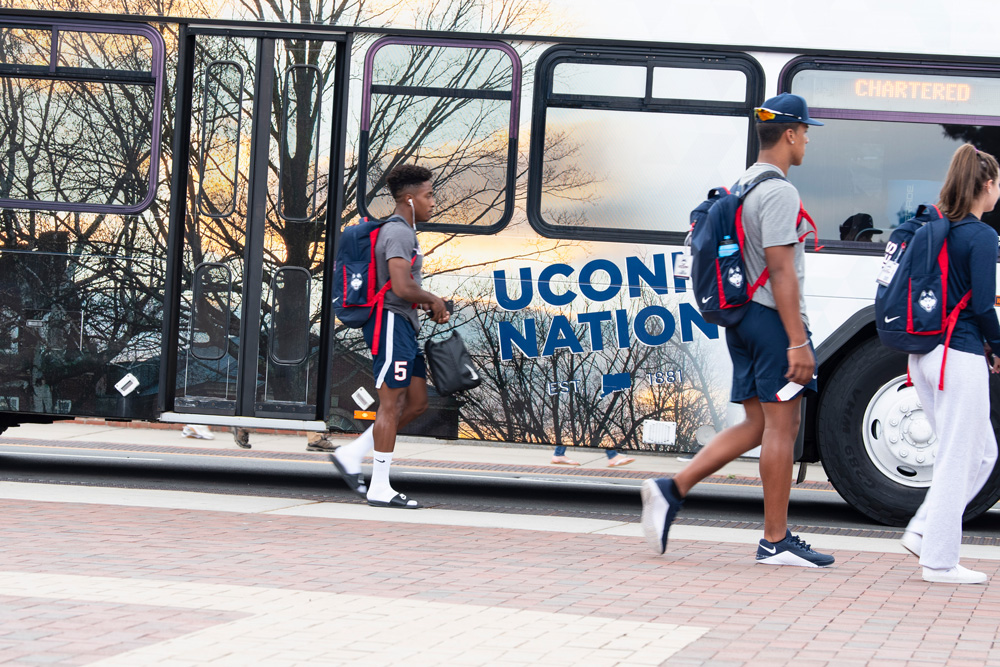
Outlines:
POLYGON ((944 389, 948 343, 958 316, 972 298, 967 292, 948 305, 948 233, 954 223, 937 206, 921 204, 917 215, 902 223, 886 244, 886 264, 898 264, 888 285, 875 292, 875 329, 882 344, 899 352, 926 354, 945 345, 939 389, 944 389), (943 336, 943 338, 942 338, 943 336))

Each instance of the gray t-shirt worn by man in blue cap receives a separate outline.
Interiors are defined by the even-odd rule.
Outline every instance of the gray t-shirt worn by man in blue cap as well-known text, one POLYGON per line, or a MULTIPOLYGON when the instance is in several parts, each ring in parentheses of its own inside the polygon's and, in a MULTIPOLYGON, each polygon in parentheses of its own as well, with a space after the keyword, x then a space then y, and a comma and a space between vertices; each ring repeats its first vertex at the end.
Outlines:
MULTIPOLYGON (((773 164, 757 162, 746 170, 739 182, 749 183, 768 171, 781 174, 781 169, 773 164)), ((802 313, 802 321, 808 328, 809 318, 806 316, 805 297, 806 244, 799 241, 799 238, 812 228, 805 220, 798 227, 795 225, 801 205, 799 191, 788 181, 774 178, 758 183, 743 201, 743 229, 746 234, 743 261, 746 262, 747 278, 752 285, 767 266, 764 260, 764 248, 795 246, 795 273, 799 277, 799 310, 802 313)), ((762 306, 777 309, 770 280, 754 292, 753 300, 762 306)))

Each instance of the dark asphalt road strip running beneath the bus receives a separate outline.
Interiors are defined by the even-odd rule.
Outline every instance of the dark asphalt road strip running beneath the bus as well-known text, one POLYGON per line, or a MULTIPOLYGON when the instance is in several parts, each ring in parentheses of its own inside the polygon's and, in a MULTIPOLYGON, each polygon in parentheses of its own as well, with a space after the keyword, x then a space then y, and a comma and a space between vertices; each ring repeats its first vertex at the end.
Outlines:
MULTIPOLYGON (((331 464, 183 452, 0 445, 0 480, 168 489, 361 503, 331 464)), ((557 475, 393 468, 393 485, 426 506, 480 512, 544 514, 638 521, 640 480, 567 479, 557 475)), ((681 519, 762 527, 760 486, 705 482, 689 494, 681 519)), ((792 489, 789 523, 841 530, 889 530, 862 516, 832 490, 792 489)), ((966 535, 1000 537, 1000 510, 966 526, 966 535)))

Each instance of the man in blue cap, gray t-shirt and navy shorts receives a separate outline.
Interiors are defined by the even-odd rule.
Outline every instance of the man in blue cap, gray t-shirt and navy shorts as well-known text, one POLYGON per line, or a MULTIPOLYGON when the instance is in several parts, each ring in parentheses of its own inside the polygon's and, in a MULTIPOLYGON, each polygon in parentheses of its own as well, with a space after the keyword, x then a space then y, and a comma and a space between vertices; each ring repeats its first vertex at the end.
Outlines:
POLYGON ((764 486, 764 538, 757 562, 825 567, 833 556, 813 550, 788 530, 795 439, 802 393, 816 391, 816 358, 809 340, 803 298, 807 225, 799 193, 785 177, 802 164, 810 125, 806 101, 782 93, 754 109, 760 152, 740 177, 740 188, 754 184, 743 201, 743 260, 753 284, 765 270, 767 281, 747 304, 742 321, 726 329, 733 360, 730 400, 741 403, 746 418, 718 433, 672 479, 642 484, 642 528, 657 554, 667 548, 667 532, 684 497, 695 484, 757 445, 764 486))

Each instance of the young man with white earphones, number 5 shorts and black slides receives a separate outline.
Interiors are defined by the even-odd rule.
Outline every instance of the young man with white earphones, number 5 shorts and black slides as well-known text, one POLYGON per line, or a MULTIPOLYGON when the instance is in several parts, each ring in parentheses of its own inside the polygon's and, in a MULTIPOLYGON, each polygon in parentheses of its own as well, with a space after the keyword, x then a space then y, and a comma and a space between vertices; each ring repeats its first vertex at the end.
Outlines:
MULTIPOLYGON (((364 495, 369 505, 416 509, 420 503, 392 488, 389 466, 396 432, 427 409, 427 368, 417 345, 419 310, 428 311, 439 324, 447 322, 449 315, 444 301, 420 286, 423 255, 417 243, 417 223, 426 222, 434 212, 433 175, 424 167, 404 164, 386 180, 396 210, 382 225, 375 243, 376 287, 392 280, 378 329, 378 351, 372 355, 378 410, 375 424, 338 448, 333 463, 347 485, 364 495), (366 486, 361 460, 372 448, 371 486, 366 486)), ((377 319, 373 313, 362 329, 369 348, 377 319)))

